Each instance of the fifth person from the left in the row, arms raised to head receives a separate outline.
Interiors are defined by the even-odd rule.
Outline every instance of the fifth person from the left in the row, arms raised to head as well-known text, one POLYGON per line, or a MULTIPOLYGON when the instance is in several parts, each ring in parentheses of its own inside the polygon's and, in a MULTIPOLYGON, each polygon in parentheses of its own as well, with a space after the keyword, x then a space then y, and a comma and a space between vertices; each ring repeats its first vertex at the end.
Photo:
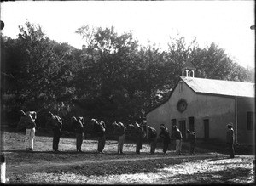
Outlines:
POLYGON ((123 153, 123 147, 125 144, 125 126, 121 122, 114 122, 113 123, 113 134, 118 135, 119 141, 118 141, 118 154, 124 154, 123 153))

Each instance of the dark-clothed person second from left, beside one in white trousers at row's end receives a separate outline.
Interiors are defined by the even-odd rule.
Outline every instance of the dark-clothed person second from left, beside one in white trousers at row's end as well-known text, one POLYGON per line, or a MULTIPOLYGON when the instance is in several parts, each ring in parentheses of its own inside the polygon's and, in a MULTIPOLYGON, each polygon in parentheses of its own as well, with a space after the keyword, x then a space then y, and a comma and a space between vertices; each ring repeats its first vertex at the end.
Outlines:
POLYGON ((46 122, 45 126, 51 128, 53 131, 52 149, 55 152, 59 152, 59 142, 61 138, 61 128, 62 128, 61 117, 54 115, 51 112, 49 112, 47 117, 48 117, 48 121, 46 122))

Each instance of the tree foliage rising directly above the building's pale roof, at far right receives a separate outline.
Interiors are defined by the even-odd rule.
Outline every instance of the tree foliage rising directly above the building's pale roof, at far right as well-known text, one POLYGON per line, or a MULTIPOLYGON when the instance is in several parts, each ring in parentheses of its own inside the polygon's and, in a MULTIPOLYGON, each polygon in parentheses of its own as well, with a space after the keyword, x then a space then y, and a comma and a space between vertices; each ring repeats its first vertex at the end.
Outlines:
POLYGON ((208 48, 198 48, 190 60, 196 67, 197 77, 253 82, 253 71, 237 65, 230 59, 229 54, 214 42, 208 48))

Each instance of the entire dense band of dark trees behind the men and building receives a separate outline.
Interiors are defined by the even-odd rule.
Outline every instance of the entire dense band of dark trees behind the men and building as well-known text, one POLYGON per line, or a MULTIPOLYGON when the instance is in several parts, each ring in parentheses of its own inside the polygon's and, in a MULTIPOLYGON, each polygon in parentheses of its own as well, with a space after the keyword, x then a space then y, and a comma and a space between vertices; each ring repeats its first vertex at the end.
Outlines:
POLYGON ((224 49, 171 37, 164 51, 140 46, 132 32, 82 26, 82 49, 46 37, 40 25, 20 25, 18 38, 1 36, 3 116, 17 110, 51 110, 71 116, 130 122, 166 99, 189 60, 195 76, 253 82, 253 69, 234 63, 224 49))

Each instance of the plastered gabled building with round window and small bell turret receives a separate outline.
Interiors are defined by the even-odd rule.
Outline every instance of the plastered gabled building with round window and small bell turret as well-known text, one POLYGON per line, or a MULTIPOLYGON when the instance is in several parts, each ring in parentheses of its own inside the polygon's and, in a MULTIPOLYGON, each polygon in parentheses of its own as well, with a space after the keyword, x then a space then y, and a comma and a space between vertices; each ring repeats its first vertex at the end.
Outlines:
POLYGON ((191 63, 185 65, 169 98, 146 113, 147 124, 157 132, 161 123, 169 132, 177 125, 183 138, 189 129, 197 138, 225 142, 226 125, 232 122, 236 143, 255 144, 254 83, 195 78, 194 70, 191 63))

